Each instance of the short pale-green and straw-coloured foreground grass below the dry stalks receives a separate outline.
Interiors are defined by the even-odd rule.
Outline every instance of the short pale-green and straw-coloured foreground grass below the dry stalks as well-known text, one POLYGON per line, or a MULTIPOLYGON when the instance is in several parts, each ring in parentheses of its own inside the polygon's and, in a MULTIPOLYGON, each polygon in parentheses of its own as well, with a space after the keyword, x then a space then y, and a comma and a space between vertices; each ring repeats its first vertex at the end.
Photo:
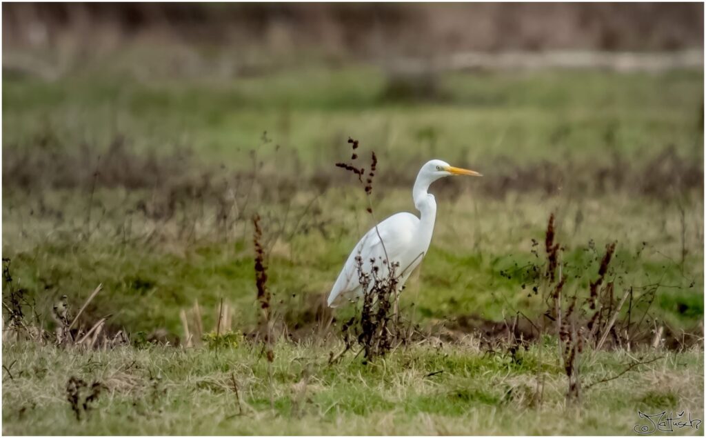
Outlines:
MULTIPOLYGON (((248 345, 217 353, 4 346, 12 377, 3 372, 3 432, 632 434, 640 423, 638 409, 648 414, 686 410, 703 418, 703 355, 696 351, 666 353, 619 379, 592 386, 583 393, 581 407, 573 408, 566 406, 563 370, 546 350, 539 405, 533 402, 536 348, 520 351, 515 361, 501 353, 486 355, 474 345, 454 345, 400 350, 367 365, 349 355, 327 365, 328 351, 337 348, 277 345, 270 390, 267 362, 258 358, 257 347, 248 345), (429 376, 433 372, 438 374, 429 376), (88 413, 82 410, 80 421, 66 401, 71 376, 105 386, 88 413)), ((635 355, 657 357, 600 353, 590 360, 586 355, 584 384, 613 377, 635 355)))

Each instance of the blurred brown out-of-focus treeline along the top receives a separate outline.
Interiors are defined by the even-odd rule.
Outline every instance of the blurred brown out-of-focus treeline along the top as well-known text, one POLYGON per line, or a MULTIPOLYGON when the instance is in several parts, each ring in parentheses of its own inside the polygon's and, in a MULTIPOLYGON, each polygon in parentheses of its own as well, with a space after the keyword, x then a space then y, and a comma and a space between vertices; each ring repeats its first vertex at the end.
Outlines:
POLYGON ((168 40, 355 57, 703 47, 703 4, 3 4, 4 49, 168 40))

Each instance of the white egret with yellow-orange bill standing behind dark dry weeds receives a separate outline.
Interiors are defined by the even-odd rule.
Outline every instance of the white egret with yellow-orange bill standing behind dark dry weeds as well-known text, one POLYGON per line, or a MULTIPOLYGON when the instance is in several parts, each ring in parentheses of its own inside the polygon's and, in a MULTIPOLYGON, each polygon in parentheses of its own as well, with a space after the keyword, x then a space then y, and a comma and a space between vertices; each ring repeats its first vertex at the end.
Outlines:
POLYGON ((402 289, 414 268, 419 266, 431 242, 436 220, 436 201, 427 190, 437 179, 450 175, 482 176, 473 170, 453 167, 442 160, 431 160, 423 165, 412 189, 414 206, 419 210, 420 217, 412 213, 397 213, 366 232, 348 256, 328 295, 330 307, 337 307, 344 300, 362 295, 356 261, 359 255, 363 271, 372 275, 373 266, 377 266, 379 278, 389 276, 390 264, 398 264, 395 276, 397 288, 402 289))

